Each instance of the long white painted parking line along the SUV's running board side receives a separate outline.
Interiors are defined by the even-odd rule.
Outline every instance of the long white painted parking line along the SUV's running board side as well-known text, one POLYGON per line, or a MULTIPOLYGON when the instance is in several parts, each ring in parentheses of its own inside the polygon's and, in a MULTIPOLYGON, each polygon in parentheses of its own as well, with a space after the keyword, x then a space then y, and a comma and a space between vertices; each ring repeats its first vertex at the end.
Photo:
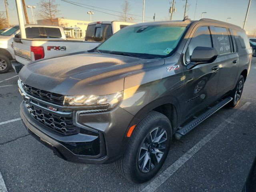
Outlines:
POLYGON ((172 176, 182 165, 184 165, 196 152, 198 152, 205 144, 207 144, 214 136, 222 131, 234 118, 236 118, 243 110, 245 110, 251 103, 246 102, 241 108, 232 114, 226 121, 222 122, 212 132, 206 135, 200 142, 194 145, 184 155, 182 155, 174 164, 170 165, 164 172, 157 176, 152 182, 150 182, 141 192, 154 192, 159 186, 161 186, 170 176, 172 176))

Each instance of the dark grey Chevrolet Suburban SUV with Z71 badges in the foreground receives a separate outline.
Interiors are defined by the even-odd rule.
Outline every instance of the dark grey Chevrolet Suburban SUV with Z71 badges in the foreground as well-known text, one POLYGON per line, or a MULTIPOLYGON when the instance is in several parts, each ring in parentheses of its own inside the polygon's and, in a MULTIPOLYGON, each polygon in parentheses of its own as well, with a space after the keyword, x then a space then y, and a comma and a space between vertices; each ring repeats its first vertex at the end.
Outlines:
POLYGON ((127 26, 90 52, 31 62, 19 73, 28 131, 64 160, 115 162, 150 180, 172 136, 235 107, 252 49, 239 26, 211 19, 127 26))

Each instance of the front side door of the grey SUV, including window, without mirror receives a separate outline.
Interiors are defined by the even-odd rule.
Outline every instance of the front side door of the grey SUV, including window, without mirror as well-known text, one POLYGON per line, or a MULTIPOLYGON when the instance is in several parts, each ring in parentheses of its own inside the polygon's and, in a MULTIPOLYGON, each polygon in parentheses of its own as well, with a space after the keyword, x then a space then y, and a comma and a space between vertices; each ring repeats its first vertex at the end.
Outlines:
MULTIPOLYGON (((192 52, 198 46, 213 47, 208 26, 200 26, 194 33, 192 32, 192 38, 190 38, 184 55, 186 64, 190 63, 192 52)), ((209 64, 199 64, 189 70, 184 66, 184 90, 186 90, 183 103, 184 120, 216 99, 218 67, 219 63, 216 60, 209 64)))

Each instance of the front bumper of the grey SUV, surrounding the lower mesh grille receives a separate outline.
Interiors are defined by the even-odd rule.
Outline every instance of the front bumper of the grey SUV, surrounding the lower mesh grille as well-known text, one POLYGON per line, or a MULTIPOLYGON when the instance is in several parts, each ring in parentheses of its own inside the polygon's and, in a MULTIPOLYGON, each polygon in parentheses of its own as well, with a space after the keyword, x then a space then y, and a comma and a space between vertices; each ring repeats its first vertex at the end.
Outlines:
POLYGON ((126 110, 117 107, 109 112, 86 113, 80 108, 72 110, 26 94, 20 82, 24 101, 20 104, 20 116, 28 132, 51 148, 60 158, 70 162, 103 164, 116 161, 124 153, 130 122, 134 119, 126 110), (36 107, 36 115, 43 111, 49 116, 72 117, 73 124, 80 128, 78 134, 63 135, 35 118, 29 105, 36 107), (52 111, 49 107, 57 108, 52 111))

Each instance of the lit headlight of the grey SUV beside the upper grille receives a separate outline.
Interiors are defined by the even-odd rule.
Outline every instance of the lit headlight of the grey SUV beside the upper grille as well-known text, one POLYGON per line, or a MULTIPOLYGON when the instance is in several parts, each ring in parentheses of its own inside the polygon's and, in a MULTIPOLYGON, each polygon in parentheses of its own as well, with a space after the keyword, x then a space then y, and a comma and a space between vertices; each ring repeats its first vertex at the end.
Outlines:
POLYGON ((123 92, 117 92, 108 95, 80 95, 80 96, 65 96, 64 105, 85 106, 88 109, 111 110, 115 108, 123 98, 123 92))

